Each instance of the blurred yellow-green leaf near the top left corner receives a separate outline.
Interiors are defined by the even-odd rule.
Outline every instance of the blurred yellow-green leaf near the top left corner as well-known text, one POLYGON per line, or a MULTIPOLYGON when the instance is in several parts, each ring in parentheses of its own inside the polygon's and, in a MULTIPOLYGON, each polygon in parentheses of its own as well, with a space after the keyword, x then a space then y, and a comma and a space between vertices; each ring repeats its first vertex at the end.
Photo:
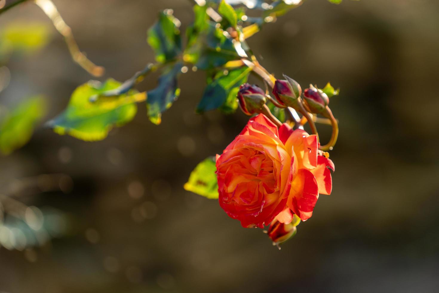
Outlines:
POLYGON ((49 27, 44 23, 14 22, 0 28, 0 61, 14 51, 30 54, 43 48, 50 40, 49 27))

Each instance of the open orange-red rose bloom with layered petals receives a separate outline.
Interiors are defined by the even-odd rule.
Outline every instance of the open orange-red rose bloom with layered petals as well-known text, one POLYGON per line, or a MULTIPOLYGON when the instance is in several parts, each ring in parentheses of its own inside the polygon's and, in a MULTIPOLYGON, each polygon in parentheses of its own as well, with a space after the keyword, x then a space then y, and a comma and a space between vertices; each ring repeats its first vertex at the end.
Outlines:
POLYGON ((307 220, 319 192, 332 189, 334 164, 317 154, 316 135, 286 123, 278 129, 263 114, 251 118, 216 155, 219 205, 246 228, 263 228, 274 218, 289 224, 293 214, 307 220))

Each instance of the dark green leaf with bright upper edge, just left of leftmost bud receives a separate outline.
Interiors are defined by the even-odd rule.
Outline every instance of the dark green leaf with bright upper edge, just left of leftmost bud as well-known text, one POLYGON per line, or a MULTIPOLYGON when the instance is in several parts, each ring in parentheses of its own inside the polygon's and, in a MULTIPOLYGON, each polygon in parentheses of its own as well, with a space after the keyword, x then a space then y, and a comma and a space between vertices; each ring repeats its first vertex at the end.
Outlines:
POLYGON ((197 106, 197 112, 220 109, 226 113, 237 108, 236 94, 239 86, 247 81, 252 69, 244 66, 230 71, 221 71, 207 85, 197 106))

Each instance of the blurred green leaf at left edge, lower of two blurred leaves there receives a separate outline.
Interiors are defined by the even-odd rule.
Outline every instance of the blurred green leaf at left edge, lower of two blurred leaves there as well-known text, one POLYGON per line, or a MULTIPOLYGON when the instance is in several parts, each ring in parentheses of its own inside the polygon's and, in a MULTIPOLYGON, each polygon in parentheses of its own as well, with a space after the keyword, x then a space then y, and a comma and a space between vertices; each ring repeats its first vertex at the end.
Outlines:
POLYGON ((25 145, 46 112, 46 99, 37 96, 23 101, 7 114, 0 123, 0 151, 8 155, 25 145))

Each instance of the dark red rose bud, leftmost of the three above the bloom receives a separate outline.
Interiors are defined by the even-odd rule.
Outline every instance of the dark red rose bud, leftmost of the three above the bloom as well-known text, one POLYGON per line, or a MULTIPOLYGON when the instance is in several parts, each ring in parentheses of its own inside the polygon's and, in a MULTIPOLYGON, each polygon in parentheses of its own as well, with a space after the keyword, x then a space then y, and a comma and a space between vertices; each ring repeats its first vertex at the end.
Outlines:
POLYGON ((244 83, 239 88, 237 98, 242 112, 251 116, 260 113, 266 103, 265 92, 255 84, 244 83))

